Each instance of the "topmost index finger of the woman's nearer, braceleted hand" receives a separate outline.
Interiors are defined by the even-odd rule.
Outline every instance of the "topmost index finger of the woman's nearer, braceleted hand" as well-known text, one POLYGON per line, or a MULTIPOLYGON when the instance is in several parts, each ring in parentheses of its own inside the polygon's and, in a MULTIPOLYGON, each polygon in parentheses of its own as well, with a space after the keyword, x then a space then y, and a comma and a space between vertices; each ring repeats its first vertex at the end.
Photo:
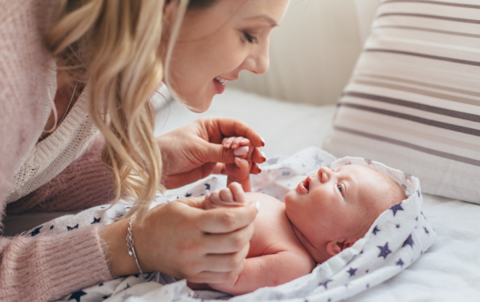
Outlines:
POLYGON ((258 212, 256 208, 257 205, 253 202, 244 207, 221 207, 203 211, 197 217, 197 225, 206 233, 230 233, 250 225, 258 212))

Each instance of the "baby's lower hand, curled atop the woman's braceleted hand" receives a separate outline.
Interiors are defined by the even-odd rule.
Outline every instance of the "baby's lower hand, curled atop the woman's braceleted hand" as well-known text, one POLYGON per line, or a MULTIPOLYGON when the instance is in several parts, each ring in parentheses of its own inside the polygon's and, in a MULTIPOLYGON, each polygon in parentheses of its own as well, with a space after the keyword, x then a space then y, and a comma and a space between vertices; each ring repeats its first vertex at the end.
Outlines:
POLYGON ((245 204, 245 192, 237 182, 232 182, 228 188, 212 192, 205 198, 205 210, 216 207, 239 207, 245 204))

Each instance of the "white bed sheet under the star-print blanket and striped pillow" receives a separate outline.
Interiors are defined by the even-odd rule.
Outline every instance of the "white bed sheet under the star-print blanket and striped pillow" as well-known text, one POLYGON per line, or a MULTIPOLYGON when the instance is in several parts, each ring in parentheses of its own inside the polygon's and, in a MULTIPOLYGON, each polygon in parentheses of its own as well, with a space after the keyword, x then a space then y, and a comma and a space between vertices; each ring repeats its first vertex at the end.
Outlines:
MULTIPOLYGON (((200 116, 230 116, 259 131, 267 155, 322 147, 335 112, 335 105, 299 105, 228 89, 203 114, 175 101, 169 107, 168 120, 165 105, 158 112, 156 134, 200 116)), ((480 205, 424 194, 423 212, 437 231, 433 246, 396 277, 347 301, 480 301, 480 205)))

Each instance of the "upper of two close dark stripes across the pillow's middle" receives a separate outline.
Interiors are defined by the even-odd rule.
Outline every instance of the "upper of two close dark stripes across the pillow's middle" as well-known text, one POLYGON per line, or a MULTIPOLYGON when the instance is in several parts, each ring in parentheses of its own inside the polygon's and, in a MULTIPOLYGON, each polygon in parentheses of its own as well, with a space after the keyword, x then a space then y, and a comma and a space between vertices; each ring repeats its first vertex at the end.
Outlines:
POLYGON ((371 99, 373 101, 379 101, 383 103, 390 103, 394 105, 400 105, 404 107, 414 108, 422 111, 432 112, 436 114, 442 114, 445 116, 451 116, 454 118, 459 118, 466 121, 472 121, 480 123, 480 116, 477 114, 471 114, 466 112, 459 112, 455 110, 439 108, 431 105, 425 105, 422 103, 416 103, 412 101, 405 101, 402 99, 394 99, 392 97, 383 97, 381 95, 371 95, 368 93, 363 92, 356 92, 356 91, 346 91, 344 95, 348 95, 349 97, 360 97, 362 99, 371 99))

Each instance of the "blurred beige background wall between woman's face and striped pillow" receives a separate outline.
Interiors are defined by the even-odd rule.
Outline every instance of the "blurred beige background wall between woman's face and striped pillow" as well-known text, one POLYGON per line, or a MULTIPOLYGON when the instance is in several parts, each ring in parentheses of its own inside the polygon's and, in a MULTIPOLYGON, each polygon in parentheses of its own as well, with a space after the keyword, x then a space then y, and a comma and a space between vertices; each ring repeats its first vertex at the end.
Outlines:
POLYGON ((379 0, 290 0, 270 40, 264 75, 228 86, 285 101, 335 103, 370 32, 379 0))

